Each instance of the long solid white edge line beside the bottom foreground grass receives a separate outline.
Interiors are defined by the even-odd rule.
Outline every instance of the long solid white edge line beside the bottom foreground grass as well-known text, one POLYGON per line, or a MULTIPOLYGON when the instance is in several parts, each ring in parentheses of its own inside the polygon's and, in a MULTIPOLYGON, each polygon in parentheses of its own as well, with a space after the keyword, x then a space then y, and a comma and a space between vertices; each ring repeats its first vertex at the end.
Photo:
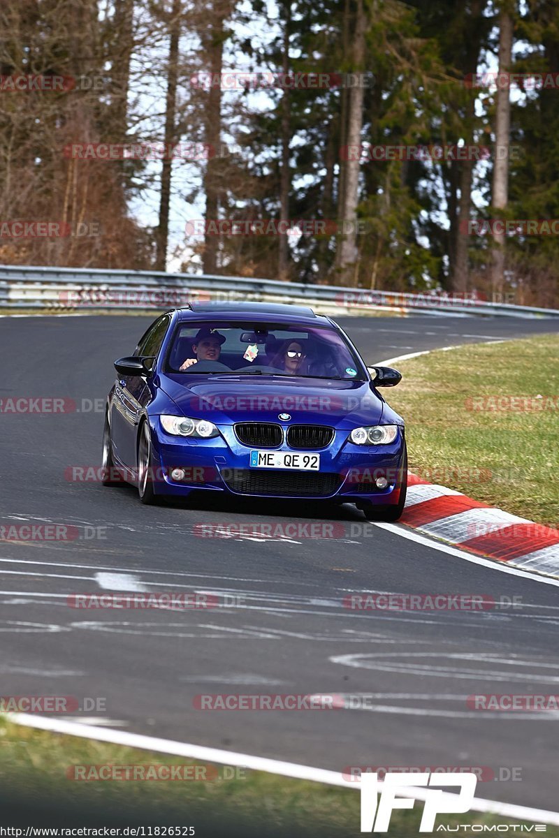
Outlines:
MULTIPOLYGON (((198 759, 202 762, 221 763, 223 765, 236 765, 249 768, 252 771, 265 771, 267 773, 279 774, 282 777, 293 779, 310 780, 313 783, 324 783, 327 785, 342 786, 345 789, 360 789, 359 779, 349 783, 339 771, 329 771, 326 768, 313 768, 313 766, 299 765, 298 763, 287 763, 283 760, 268 757, 255 757, 247 753, 236 751, 224 751, 221 748, 194 745, 191 742, 176 742, 172 739, 161 739, 158 737, 143 736, 140 733, 117 731, 103 727, 86 727, 75 722, 63 722, 60 719, 49 719, 44 716, 31 716, 25 713, 14 713, 10 721, 25 727, 35 727, 39 730, 51 731, 54 733, 66 733, 69 736, 79 736, 85 739, 95 739, 98 742, 112 742, 116 745, 126 747, 138 747, 146 751, 157 751, 158 753, 170 753, 177 757, 198 759)), ((381 786, 382 784, 380 784, 381 786)), ((429 789, 401 789, 399 794, 404 797, 412 797, 417 800, 427 800, 431 796, 429 789)), ((440 794, 437 790, 436 794, 440 794)), ((441 800, 452 805, 457 799, 456 794, 443 792, 441 800)), ((520 818, 520 820, 531 820, 538 823, 546 823, 559 826, 559 812, 549 810, 532 809, 528 806, 502 803, 499 800, 488 800, 474 798, 470 807, 476 812, 490 812, 503 817, 520 818)))

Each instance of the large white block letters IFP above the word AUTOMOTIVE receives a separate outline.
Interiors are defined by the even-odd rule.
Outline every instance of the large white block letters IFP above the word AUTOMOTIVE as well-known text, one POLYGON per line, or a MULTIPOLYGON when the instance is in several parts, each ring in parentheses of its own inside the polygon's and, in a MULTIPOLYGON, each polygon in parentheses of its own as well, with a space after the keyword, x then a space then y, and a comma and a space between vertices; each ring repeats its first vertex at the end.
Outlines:
POLYGON ((386 773, 382 783, 378 774, 361 774, 361 832, 387 832, 393 809, 413 809, 416 798, 411 791, 396 797, 401 789, 417 786, 433 788, 425 799, 420 832, 432 832, 437 815, 468 812, 474 802, 478 778, 474 773, 386 773), (459 786, 459 794, 447 794, 439 786, 459 786), (437 790, 435 790, 437 789, 437 790), (380 791, 380 803, 379 803, 380 791))

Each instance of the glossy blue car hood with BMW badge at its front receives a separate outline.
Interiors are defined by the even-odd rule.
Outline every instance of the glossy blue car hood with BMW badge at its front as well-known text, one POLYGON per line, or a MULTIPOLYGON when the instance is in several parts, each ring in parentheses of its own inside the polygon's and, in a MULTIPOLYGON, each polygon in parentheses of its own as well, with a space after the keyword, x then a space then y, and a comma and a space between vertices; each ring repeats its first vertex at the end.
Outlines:
POLYGON ((369 381, 287 379, 256 375, 161 375, 161 388, 184 416, 215 424, 285 421, 352 429, 385 422, 402 424, 369 381))

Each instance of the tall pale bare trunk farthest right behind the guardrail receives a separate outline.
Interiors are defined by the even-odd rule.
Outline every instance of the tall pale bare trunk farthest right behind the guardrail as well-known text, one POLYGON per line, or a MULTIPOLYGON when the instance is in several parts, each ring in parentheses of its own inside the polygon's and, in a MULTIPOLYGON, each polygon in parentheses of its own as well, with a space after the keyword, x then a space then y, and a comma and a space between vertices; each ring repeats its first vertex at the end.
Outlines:
MULTIPOLYGON (((512 59, 513 23, 508 8, 501 9, 499 17, 499 73, 508 72, 512 59)), ((497 89, 495 117, 495 160, 493 167, 494 209, 506 209, 509 199, 509 143, 510 143, 510 93, 508 85, 497 89)), ((501 292, 505 282, 505 233, 495 233, 492 252, 491 287, 501 292)))

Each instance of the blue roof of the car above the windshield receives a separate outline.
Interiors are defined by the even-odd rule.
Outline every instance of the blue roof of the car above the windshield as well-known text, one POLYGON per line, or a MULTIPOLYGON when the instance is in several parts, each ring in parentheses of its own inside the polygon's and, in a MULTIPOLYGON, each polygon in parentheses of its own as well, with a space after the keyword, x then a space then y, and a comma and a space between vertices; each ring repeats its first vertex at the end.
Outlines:
POLYGON ((289 305, 287 303, 189 303, 189 308, 176 309, 179 321, 189 319, 220 319, 247 318, 265 319, 282 323, 313 323, 313 325, 331 325, 332 321, 320 314, 315 314, 308 306, 289 305))

